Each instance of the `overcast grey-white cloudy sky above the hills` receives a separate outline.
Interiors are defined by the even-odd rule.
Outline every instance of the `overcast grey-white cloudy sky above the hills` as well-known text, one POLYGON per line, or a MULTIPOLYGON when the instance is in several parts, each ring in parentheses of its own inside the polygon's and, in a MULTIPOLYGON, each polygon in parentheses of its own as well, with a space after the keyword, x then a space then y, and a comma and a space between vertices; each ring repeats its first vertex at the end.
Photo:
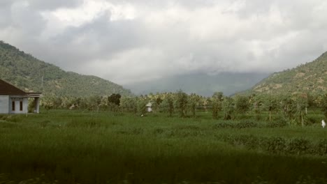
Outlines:
POLYGON ((327 51, 327 1, 0 0, 0 40, 118 84, 276 72, 327 51))

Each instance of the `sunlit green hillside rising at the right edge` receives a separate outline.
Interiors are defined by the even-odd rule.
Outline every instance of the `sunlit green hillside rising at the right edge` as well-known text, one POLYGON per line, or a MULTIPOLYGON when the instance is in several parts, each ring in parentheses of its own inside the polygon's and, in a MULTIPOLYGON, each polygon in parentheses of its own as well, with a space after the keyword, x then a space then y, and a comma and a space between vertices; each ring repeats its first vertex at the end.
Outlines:
POLYGON ((296 68, 275 72, 247 93, 326 93, 327 52, 316 60, 296 68))

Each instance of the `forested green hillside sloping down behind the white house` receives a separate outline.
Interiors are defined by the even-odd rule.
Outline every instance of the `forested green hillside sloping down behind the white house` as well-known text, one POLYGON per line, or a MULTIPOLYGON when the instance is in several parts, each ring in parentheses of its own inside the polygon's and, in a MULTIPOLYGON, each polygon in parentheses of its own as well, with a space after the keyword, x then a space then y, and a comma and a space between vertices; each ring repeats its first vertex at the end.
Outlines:
POLYGON ((66 72, 3 41, 0 41, 0 79, 24 91, 38 91, 44 95, 132 95, 131 91, 118 84, 100 77, 66 72))

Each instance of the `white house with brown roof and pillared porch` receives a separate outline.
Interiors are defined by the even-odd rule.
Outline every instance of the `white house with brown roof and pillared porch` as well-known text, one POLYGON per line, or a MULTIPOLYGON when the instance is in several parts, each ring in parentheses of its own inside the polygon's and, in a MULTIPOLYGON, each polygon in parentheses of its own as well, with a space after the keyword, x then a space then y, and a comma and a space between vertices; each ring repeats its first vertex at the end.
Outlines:
POLYGON ((27 114, 29 98, 34 98, 34 113, 39 112, 41 93, 26 93, 0 79, 0 114, 27 114))

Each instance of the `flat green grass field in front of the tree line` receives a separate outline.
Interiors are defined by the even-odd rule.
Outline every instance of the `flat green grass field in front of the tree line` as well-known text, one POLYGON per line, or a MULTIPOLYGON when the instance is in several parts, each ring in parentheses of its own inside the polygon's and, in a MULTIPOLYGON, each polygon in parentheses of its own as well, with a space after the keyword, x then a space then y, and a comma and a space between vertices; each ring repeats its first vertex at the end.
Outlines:
POLYGON ((0 183, 327 183, 327 129, 318 123, 205 112, 0 115, 0 183))

